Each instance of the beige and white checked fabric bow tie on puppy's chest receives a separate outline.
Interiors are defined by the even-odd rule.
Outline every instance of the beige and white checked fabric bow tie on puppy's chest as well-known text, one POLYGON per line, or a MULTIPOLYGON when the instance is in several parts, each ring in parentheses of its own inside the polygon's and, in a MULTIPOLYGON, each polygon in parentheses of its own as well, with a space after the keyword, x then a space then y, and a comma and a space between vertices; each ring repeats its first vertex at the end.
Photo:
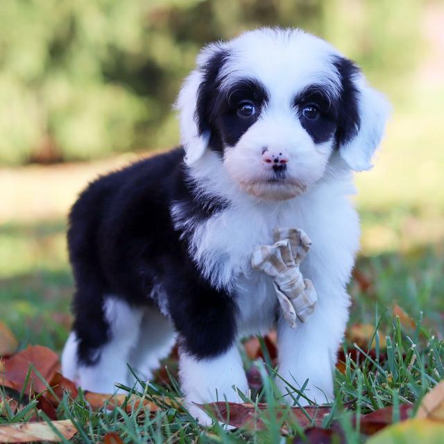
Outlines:
POLYGON ((275 228, 273 245, 259 245, 253 251, 251 265, 273 278, 273 287, 282 314, 292 328, 296 318, 307 321, 318 296, 311 280, 304 279, 299 264, 309 252, 311 241, 297 228, 275 228))

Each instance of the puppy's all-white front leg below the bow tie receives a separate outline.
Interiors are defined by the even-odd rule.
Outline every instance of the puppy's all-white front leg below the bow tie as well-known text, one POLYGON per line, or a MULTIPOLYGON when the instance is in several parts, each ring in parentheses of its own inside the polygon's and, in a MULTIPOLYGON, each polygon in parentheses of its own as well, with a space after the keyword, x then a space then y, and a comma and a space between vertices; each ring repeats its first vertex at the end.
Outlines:
MULTIPOLYGON (((348 318, 349 298, 343 289, 325 293, 319 285, 316 290, 318 305, 305 323, 298 322, 296 329, 292 329, 282 317, 279 321, 278 373, 298 390, 308 381, 305 397, 323 404, 334 400, 334 365, 348 318)), ((286 402, 292 404, 294 397, 300 404, 308 404, 298 393, 290 395, 292 389, 280 377, 276 382, 286 402)))

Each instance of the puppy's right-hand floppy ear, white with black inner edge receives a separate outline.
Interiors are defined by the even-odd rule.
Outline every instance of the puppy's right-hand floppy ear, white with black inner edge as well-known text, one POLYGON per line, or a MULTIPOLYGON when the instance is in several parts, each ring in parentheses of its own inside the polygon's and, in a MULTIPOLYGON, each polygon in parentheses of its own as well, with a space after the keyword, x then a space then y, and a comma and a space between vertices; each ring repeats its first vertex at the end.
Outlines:
POLYGON ((342 84, 336 130, 339 153, 351 169, 370 169, 373 153, 384 135, 390 104, 368 86, 364 75, 350 60, 337 57, 334 65, 342 84))

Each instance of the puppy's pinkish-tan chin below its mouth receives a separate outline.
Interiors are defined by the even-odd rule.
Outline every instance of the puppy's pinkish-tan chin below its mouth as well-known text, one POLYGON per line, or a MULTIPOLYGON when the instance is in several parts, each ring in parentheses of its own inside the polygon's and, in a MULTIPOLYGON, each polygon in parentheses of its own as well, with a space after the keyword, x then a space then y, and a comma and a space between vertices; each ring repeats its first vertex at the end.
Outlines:
POLYGON ((305 185, 296 180, 249 180, 239 182, 241 189, 262 200, 289 200, 306 190, 305 185))

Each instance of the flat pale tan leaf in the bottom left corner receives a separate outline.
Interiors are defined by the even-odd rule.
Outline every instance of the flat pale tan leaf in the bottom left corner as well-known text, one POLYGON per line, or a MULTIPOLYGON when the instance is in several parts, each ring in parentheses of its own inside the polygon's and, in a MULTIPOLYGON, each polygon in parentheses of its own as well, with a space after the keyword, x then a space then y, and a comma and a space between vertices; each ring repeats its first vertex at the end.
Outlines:
MULTIPOLYGON (((66 439, 71 439, 76 433, 76 427, 71 420, 53 421, 53 427, 66 439)), ((53 432, 46 422, 19 422, 12 425, 0 425, 0 443, 31 443, 49 441, 60 443, 62 439, 53 432)))

